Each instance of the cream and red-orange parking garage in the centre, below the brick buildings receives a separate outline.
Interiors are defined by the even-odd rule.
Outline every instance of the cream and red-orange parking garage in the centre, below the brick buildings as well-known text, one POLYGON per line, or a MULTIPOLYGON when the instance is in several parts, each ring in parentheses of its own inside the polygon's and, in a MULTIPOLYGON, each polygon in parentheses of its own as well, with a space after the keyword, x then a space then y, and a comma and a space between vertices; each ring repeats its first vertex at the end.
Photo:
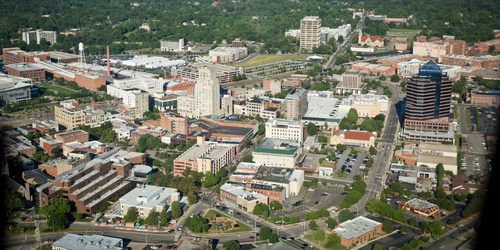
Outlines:
POLYGON ((180 176, 186 168, 190 168, 191 171, 211 171, 215 174, 221 167, 230 164, 235 155, 236 146, 205 142, 203 136, 199 136, 196 145, 173 161, 173 172, 175 176, 180 176))

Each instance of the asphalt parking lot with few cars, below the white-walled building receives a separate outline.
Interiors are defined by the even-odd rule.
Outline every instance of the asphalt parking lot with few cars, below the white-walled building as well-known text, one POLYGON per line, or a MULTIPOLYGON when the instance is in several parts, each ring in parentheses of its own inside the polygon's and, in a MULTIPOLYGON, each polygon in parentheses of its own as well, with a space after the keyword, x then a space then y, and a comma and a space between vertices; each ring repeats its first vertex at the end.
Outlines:
MULTIPOLYGON (((313 191, 308 191, 307 195, 305 195, 302 200, 302 202, 305 203, 305 211, 304 203, 301 203, 299 206, 295 207, 295 209, 288 211, 286 216, 297 216, 300 219, 304 218, 305 214, 308 212, 317 211, 321 208, 328 210, 333 206, 338 207, 338 204, 343 200, 345 194, 347 193, 343 189, 320 186, 313 191), (321 195, 323 192, 327 192, 328 195, 321 195), (318 202, 317 204, 315 204, 316 201, 318 202)), ((292 208, 292 204, 287 205, 292 208)))

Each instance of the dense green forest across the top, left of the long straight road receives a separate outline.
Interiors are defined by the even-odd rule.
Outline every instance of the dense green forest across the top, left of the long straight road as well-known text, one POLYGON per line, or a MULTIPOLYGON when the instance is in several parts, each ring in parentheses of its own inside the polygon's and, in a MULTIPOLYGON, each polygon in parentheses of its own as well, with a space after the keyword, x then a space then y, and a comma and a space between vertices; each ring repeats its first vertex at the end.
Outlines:
MULTIPOLYGON (((2 1, 0 37, 21 38, 22 32, 18 31, 28 27, 59 32, 81 27, 82 31, 75 35, 58 35, 58 44, 52 45, 52 49, 68 52, 81 41, 89 45, 86 52, 94 53, 103 52, 105 45, 109 45, 112 51, 159 47, 159 40, 165 38, 208 43, 240 37, 272 42, 282 40, 286 30, 299 28, 300 19, 306 15, 321 17, 322 26, 329 27, 342 25, 343 17, 352 16, 347 9, 341 10, 348 5, 326 3, 325 0, 222 1, 215 7, 210 5, 211 2, 199 0, 199 4, 194 5, 194 1, 160 0, 132 7, 130 1, 124 0, 2 1), (48 14, 49 17, 42 17, 48 14), (252 20, 252 16, 258 18, 252 20), (190 23, 191 20, 200 25, 182 25, 182 22, 190 23), (142 23, 148 23, 151 31, 139 29, 142 23), (201 23, 206 25, 201 26, 201 23), (116 24, 119 25, 112 27, 116 24), (113 41, 140 41, 145 44, 113 41)), ((348 22, 353 26, 357 24, 357 20, 352 18, 348 22)), ((4 42, 4 46, 18 46, 28 51, 48 50, 46 42, 27 45, 14 41, 10 44, 4 42)))

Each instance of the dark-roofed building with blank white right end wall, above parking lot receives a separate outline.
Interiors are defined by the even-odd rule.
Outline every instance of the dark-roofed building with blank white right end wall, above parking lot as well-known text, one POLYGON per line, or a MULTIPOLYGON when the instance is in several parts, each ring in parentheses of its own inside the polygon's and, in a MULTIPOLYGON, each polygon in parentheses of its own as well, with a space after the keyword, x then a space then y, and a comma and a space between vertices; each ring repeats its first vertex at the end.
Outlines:
MULTIPOLYGON (((277 187, 277 192, 274 193, 272 199, 283 199, 283 193, 281 193, 282 190, 279 187, 284 188, 284 198, 288 198, 290 195, 297 195, 300 192, 303 182, 303 170, 294 169, 293 167, 261 166, 253 176, 250 187, 253 186, 255 190, 262 189, 262 187, 255 188, 258 185, 254 185, 254 183, 270 185, 270 188, 275 186, 277 187)), ((262 193, 264 191, 259 190, 259 192, 262 193)))

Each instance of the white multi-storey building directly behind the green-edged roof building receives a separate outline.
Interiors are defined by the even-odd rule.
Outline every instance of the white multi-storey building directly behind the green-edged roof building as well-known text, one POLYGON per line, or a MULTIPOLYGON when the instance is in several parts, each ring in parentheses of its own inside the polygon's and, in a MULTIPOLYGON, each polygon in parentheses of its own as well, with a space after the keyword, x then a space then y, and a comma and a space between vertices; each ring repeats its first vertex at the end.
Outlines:
POLYGON ((265 122, 265 137, 302 141, 305 123, 302 121, 269 119, 265 122))

